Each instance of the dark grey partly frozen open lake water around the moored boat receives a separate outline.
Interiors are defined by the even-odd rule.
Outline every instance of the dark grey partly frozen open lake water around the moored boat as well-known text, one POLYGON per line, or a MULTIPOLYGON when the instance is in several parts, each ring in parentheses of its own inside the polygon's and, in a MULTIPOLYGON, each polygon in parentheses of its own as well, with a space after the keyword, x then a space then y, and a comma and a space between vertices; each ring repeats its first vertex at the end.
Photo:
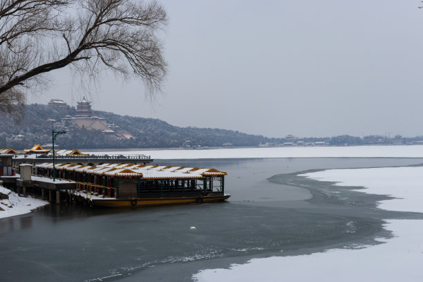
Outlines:
POLYGON ((391 236, 384 219, 423 218, 375 209, 383 196, 347 188, 333 194, 328 183, 295 175, 310 169, 422 164, 423 159, 155 162, 227 171, 225 192, 232 197, 228 203, 144 209, 48 205, 1 219, 0 281, 191 281, 198 270, 254 257, 376 244, 375 238, 391 236))

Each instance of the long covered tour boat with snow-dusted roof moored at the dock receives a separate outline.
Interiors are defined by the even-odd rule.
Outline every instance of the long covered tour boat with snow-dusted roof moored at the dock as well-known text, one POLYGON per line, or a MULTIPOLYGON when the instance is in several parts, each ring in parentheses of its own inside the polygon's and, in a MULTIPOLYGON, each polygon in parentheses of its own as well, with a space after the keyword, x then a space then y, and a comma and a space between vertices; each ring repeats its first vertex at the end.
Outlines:
MULTIPOLYGON (((53 163, 35 166, 37 176, 52 177, 53 163)), ((146 164, 55 164, 56 176, 75 182, 73 200, 102 207, 147 207, 223 202, 224 171, 146 164)))

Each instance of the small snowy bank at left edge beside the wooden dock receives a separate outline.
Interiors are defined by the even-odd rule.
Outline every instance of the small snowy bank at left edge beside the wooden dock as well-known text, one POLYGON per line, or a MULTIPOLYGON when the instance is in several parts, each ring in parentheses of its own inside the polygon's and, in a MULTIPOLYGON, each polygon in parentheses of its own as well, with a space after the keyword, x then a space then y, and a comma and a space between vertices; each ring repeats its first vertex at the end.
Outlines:
POLYGON ((42 207, 48 204, 46 200, 19 197, 15 192, 1 186, 0 193, 9 195, 8 200, 0 200, 0 207, 4 209, 3 211, 0 210, 0 218, 28 214, 32 211, 32 209, 37 209, 37 207, 42 207))

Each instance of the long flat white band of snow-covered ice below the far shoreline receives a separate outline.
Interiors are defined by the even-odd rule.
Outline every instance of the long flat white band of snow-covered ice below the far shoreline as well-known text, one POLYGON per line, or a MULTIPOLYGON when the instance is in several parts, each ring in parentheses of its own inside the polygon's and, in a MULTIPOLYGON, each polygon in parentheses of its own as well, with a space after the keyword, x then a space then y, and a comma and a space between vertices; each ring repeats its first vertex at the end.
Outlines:
MULTIPOLYGON (((84 151, 85 152, 85 151, 84 151)), ((203 150, 86 151, 90 154, 145 155, 153 159, 198 158, 423 158, 423 145, 353 147, 270 147, 203 150)))

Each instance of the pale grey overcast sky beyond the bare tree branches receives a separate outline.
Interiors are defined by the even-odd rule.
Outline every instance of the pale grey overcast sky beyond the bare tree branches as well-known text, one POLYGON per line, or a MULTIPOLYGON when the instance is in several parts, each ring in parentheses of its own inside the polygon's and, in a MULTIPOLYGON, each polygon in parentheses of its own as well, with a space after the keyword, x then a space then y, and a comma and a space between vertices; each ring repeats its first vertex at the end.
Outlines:
POLYGON ((66 68, 28 102, 85 95, 97 111, 276 138, 423 135, 420 1, 161 3, 164 93, 108 74, 88 92, 66 68))

